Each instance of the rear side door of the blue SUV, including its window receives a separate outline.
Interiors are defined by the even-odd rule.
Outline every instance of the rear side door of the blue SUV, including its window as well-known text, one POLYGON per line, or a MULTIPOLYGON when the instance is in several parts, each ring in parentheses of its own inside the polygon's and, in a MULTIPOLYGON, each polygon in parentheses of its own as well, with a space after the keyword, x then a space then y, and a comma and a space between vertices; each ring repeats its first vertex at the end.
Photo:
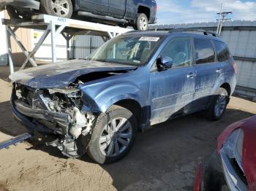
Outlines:
POLYGON ((217 61, 214 45, 211 39, 194 38, 195 70, 195 110, 204 109, 209 104, 211 90, 222 75, 222 63, 217 61))

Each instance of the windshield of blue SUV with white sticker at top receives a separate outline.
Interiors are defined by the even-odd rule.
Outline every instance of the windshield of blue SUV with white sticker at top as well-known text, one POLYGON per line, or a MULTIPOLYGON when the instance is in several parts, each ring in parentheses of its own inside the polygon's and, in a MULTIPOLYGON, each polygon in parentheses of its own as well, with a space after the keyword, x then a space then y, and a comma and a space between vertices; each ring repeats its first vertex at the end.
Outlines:
POLYGON ((159 36, 118 36, 99 47, 89 60, 140 66, 148 61, 159 36))

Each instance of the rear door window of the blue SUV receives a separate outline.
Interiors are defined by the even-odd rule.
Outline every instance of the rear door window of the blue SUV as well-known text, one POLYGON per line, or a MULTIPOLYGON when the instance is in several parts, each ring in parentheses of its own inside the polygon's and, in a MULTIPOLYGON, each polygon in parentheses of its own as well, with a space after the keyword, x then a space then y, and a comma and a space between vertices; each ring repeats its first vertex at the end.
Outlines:
POLYGON ((195 60, 197 64, 214 63, 215 52, 211 40, 194 39, 195 43, 195 60))

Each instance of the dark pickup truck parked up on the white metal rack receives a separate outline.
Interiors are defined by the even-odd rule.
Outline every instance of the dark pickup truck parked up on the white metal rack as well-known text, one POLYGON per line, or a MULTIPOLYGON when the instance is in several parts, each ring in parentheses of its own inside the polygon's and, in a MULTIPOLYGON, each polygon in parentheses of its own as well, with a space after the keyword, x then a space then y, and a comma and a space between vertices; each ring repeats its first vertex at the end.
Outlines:
POLYGON ((155 0, 0 0, 0 10, 7 9, 10 17, 28 19, 45 13, 58 17, 75 17, 119 26, 134 26, 146 31, 156 23, 155 0))

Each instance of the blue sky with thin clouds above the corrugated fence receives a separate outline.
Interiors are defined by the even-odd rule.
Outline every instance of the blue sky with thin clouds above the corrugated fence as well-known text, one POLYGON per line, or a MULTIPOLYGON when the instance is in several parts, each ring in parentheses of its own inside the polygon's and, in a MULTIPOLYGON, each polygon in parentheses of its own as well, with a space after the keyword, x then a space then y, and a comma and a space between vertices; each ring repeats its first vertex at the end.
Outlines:
POLYGON ((216 21, 221 3, 232 20, 256 20, 256 0, 158 0, 157 24, 216 21))

